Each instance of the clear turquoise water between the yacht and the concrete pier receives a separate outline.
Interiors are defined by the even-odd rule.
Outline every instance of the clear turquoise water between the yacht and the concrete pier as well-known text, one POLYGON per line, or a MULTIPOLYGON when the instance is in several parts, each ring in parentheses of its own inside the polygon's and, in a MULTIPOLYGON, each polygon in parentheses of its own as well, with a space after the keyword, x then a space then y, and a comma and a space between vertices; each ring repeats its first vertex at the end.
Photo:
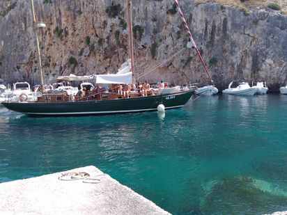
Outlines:
POLYGON ((0 106, 0 182, 97 166, 172 214, 287 210, 287 95, 183 109, 30 118, 0 106))

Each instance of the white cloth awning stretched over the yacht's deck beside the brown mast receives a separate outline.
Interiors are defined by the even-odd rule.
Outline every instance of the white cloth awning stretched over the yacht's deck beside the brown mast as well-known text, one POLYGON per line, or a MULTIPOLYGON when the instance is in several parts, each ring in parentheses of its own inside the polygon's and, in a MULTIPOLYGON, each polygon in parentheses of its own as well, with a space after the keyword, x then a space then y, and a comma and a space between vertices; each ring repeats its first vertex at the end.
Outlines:
POLYGON ((124 74, 97 74, 96 83, 132 83, 132 72, 124 74))

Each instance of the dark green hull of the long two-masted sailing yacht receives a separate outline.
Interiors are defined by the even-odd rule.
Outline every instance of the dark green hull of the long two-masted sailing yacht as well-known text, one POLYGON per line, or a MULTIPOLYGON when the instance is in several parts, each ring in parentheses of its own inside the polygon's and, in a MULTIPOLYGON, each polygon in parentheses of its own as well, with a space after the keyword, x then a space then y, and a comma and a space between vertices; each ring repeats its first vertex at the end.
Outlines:
POLYGON ((128 99, 53 103, 3 102, 2 104, 7 109, 31 116, 77 116, 156 111, 159 104, 164 104, 166 109, 175 109, 185 105, 193 94, 194 90, 185 90, 168 95, 153 95, 128 99))

